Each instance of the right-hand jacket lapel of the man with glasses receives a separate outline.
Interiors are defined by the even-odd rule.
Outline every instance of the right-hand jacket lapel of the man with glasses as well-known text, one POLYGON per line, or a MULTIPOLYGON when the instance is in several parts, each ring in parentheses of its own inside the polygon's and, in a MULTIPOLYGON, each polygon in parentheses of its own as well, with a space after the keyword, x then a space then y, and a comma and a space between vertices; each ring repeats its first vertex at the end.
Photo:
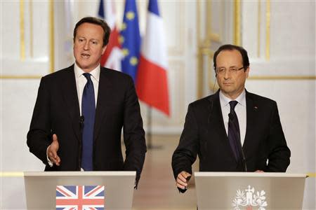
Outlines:
POLYGON ((258 115, 258 105, 246 91, 246 136, 244 138, 243 150, 247 156, 247 149, 251 148, 251 141, 256 140, 256 119, 258 115))

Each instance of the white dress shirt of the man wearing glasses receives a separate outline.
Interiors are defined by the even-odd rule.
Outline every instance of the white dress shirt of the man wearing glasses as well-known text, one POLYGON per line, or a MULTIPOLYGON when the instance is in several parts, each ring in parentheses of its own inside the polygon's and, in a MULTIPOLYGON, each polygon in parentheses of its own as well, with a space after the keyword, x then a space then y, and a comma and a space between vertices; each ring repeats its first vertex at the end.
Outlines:
MULTIPOLYGON (((226 134, 228 135, 228 114, 230 113, 230 101, 232 99, 226 97, 223 92, 219 92, 220 97, 220 108, 222 109, 223 120, 225 125, 226 134)), ((244 90, 235 101, 238 104, 235 106, 235 113, 237 114, 239 130, 240 130, 240 141, 244 145, 244 137, 246 136, 246 91, 244 90)))

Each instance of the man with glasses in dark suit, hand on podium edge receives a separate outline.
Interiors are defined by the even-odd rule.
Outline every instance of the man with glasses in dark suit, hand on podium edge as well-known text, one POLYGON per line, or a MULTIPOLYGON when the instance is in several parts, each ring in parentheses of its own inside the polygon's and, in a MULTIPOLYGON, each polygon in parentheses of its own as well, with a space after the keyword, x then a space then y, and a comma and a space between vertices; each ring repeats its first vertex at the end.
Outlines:
POLYGON ((172 157, 181 192, 197 155, 201 172, 285 172, 290 162, 276 102, 244 88, 249 74, 246 50, 222 45, 213 63, 220 90, 189 105, 172 157))

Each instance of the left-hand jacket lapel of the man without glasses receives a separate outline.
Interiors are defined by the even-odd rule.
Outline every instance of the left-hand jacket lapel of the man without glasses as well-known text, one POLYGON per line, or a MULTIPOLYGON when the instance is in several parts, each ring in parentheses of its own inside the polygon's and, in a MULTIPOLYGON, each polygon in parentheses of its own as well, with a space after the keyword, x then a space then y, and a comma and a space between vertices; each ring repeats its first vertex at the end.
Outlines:
POLYGON ((80 109, 77 94, 76 79, 74 77, 74 65, 70 66, 62 81, 62 94, 66 102, 67 111, 70 114, 72 128, 77 138, 81 138, 79 130, 80 109))

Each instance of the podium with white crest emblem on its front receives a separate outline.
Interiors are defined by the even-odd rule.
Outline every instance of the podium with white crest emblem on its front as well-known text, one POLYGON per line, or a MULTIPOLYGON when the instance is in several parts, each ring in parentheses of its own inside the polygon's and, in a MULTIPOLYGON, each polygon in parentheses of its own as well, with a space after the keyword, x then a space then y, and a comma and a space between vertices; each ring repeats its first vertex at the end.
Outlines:
POLYGON ((197 207, 302 209, 306 174, 195 172, 197 207))

